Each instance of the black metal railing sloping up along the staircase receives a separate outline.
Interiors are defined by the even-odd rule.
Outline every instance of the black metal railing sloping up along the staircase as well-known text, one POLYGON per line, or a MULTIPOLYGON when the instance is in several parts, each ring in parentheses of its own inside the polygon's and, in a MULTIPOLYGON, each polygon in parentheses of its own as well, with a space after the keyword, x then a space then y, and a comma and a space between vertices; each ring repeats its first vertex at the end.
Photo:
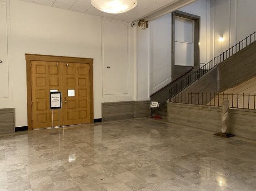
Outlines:
POLYGON ((239 43, 236 43, 236 45, 232 46, 225 52, 221 53, 219 56, 216 56, 215 58, 211 59, 204 66, 197 69, 195 72, 181 80, 176 85, 172 86, 171 89, 169 90, 169 101, 171 101, 171 98, 173 98, 177 93, 180 93, 187 86, 191 85, 194 81, 198 80, 201 76, 209 72, 217 64, 223 62, 228 57, 231 57, 233 54, 240 51, 242 48, 245 48, 247 45, 253 43, 255 41, 255 33, 256 31, 250 34, 248 37, 241 40, 239 43))

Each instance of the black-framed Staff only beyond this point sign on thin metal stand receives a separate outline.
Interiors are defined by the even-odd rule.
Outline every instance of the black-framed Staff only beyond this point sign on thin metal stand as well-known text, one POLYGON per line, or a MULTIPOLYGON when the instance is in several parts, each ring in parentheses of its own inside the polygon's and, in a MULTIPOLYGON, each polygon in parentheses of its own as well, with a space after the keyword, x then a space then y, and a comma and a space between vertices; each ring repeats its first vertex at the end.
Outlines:
POLYGON ((60 109, 62 108, 61 104, 61 91, 50 91, 50 110, 51 110, 51 115, 52 115, 52 134, 53 133, 53 110, 58 110, 59 111, 59 134, 60 134, 60 109))

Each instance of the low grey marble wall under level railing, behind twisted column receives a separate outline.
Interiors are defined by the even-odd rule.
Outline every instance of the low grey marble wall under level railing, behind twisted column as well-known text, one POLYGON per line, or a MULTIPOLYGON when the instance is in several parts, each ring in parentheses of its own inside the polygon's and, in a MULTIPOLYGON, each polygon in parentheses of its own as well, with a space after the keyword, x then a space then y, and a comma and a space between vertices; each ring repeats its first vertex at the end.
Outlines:
MULTIPOLYGON (((214 132, 221 132, 221 107, 167 101, 167 120, 214 132)), ((228 132, 256 140, 256 110, 228 109, 228 132)))

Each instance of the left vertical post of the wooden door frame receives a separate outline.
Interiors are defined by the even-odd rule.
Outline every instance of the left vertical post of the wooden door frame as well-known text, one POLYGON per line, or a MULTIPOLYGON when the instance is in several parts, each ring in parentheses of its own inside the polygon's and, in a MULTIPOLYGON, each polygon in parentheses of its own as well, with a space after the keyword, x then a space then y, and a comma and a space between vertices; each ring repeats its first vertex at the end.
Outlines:
POLYGON ((26 59, 26 71, 27 71, 27 119, 28 130, 32 130, 32 90, 31 90, 31 60, 26 59))

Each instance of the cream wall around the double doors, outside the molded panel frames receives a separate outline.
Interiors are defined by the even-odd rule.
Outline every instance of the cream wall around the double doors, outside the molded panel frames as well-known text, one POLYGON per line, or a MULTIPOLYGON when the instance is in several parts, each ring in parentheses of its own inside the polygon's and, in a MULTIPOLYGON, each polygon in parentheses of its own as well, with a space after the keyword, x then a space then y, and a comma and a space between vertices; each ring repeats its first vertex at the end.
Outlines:
POLYGON ((10 29, 11 51, 8 64, 11 67, 12 81, 9 85, 12 85, 12 93, 10 98, 0 98, 0 108, 15 108, 16 127, 27 125, 25 53, 93 58, 95 119, 101 118, 101 102, 134 100, 133 32, 129 32, 128 39, 131 41, 127 69, 130 70, 131 91, 128 96, 103 97, 99 16, 11 0, 10 29))

